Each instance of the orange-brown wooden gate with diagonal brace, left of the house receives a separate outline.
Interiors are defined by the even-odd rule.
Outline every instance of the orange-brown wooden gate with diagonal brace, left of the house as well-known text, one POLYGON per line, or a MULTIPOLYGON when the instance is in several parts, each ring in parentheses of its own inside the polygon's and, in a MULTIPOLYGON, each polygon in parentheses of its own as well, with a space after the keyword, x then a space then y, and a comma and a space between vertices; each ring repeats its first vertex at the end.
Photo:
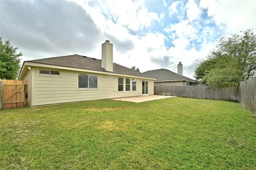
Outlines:
MULTIPOLYGON (((1 108, 24 107, 27 105, 27 81, 0 80, 2 83, 1 108)), ((0 85, 1 85, 0 84, 0 85)))

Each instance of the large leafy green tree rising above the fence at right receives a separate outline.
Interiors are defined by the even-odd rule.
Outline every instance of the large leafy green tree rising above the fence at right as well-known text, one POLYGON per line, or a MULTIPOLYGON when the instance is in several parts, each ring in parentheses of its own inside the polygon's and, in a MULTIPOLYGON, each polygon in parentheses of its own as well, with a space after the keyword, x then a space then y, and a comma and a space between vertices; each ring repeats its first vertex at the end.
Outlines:
POLYGON ((210 86, 239 85, 256 76, 256 35, 252 29, 218 40, 206 60, 197 61, 194 77, 210 86))

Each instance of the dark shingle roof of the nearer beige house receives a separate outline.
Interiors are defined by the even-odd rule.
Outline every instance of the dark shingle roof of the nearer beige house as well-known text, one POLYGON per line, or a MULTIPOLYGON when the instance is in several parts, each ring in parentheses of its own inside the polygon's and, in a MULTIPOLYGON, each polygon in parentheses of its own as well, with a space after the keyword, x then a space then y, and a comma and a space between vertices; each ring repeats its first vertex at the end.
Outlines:
MULTIPOLYGON (((102 71, 102 72, 110 72, 110 71, 106 71, 104 68, 101 67, 101 60, 85 57, 77 54, 38 59, 38 60, 30 60, 27 62, 50 64, 50 65, 56 65, 56 66, 66 66, 66 67, 72 67, 72 68, 82 68, 82 69, 96 70, 96 71, 102 71)), ((137 72, 135 70, 121 66, 116 63, 113 63, 113 73, 147 77, 143 75, 141 72, 137 72)))

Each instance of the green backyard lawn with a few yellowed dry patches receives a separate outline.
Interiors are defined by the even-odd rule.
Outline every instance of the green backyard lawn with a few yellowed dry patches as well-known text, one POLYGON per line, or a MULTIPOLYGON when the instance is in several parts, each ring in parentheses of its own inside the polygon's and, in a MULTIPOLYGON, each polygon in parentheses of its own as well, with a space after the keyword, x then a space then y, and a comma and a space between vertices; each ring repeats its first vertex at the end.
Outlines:
POLYGON ((2 109, 0 169, 256 169, 241 104, 168 98, 2 109))

